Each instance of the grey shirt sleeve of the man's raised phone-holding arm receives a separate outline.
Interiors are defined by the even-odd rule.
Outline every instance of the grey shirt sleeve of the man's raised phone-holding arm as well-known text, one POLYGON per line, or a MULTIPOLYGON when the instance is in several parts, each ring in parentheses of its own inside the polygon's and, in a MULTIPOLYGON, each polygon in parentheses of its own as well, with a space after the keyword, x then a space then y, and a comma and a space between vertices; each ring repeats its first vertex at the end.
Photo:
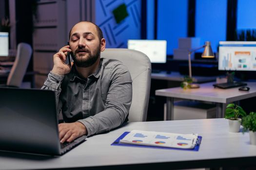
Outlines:
POLYGON ((61 83, 63 80, 64 76, 63 75, 58 75, 50 71, 48 74, 46 80, 44 81, 43 86, 41 89, 45 90, 52 90, 55 92, 55 100, 56 100, 56 105, 58 106, 58 113, 61 110, 61 103, 59 103, 59 94, 61 92, 61 83))

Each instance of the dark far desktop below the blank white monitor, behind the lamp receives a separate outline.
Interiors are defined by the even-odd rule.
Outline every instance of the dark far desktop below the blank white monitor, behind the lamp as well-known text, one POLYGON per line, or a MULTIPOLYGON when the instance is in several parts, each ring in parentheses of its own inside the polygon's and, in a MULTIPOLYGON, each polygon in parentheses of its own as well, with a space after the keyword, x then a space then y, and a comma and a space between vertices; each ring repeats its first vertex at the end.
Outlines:
MULTIPOLYGON (((166 71, 162 71, 160 73, 151 73, 152 79, 157 80, 167 80, 167 81, 184 81, 184 76, 179 72, 172 71, 170 74, 167 74, 166 71)), ((216 81, 217 76, 193 76, 193 82, 195 83, 205 83, 205 82, 213 82, 216 81)))

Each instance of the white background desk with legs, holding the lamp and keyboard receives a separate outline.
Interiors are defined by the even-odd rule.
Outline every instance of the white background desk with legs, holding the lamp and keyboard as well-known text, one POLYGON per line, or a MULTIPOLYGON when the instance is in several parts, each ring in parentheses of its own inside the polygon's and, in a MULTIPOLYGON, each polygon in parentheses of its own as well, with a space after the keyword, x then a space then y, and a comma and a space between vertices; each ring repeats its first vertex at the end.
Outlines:
POLYGON ((250 91, 239 91, 239 87, 229 89, 214 88, 214 83, 205 83, 200 84, 200 88, 194 89, 182 89, 181 87, 160 89, 156 90, 156 95, 167 97, 167 117, 165 120, 173 119, 174 98, 214 102, 217 104, 216 118, 224 118, 225 107, 227 103, 236 102, 256 96, 256 83, 246 83, 247 86, 250 87, 250 91))

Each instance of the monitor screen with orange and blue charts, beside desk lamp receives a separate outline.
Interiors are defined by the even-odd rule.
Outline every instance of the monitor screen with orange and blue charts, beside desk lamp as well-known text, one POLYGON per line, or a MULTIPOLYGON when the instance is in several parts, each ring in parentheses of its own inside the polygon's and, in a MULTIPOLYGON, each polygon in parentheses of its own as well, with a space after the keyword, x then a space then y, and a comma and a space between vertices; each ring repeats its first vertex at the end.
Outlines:
POLYGON ((219 41, 218 69, 256 71, 256 41, 219 41))

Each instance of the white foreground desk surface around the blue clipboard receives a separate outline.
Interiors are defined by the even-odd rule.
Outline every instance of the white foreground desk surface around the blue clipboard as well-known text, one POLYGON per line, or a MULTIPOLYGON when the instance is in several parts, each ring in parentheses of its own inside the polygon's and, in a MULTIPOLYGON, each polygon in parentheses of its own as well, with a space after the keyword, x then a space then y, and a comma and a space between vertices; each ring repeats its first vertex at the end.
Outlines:
POLYGON ((43 157, 0 152, 0 169, 71 169, 71 168, 159 168, 168 169, 256 166, 256 146, 249 134, 228 132, 226 119, 196 119, 132 122, 106 134, 87 138, 78 147, 59 157, 43 157), (154 148, 111 146, 123 132, 146 130, 170 133, 198 133, 202 142, 198 152, 154 148), (106 167, 111 166, 111 167, 106 167))

